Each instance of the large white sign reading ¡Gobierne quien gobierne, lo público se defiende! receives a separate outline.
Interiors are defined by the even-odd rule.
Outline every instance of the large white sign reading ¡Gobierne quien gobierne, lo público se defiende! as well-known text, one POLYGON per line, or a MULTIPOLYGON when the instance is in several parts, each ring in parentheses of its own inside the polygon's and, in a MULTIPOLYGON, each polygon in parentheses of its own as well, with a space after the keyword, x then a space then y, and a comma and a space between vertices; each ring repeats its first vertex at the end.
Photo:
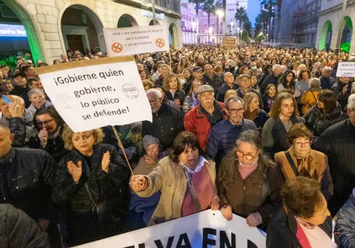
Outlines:
POLYGON ((54 107, 74 132, 152 121, 132 56, 63 63, 37 72, 54 107))

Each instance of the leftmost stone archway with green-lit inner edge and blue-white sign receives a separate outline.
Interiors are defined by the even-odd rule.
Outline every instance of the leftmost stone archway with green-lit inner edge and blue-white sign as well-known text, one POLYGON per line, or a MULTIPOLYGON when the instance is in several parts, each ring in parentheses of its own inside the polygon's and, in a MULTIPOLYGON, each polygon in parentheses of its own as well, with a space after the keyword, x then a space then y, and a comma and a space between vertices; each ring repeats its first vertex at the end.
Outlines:
POLYGON ((10 56, 18 51, 31 52, 34 64, 38 60, 45 61, 37 28, 28 12, 13 0, 2 0, 0 4, 0 24, 9 25, 1 29, 12 30, 0 35, 1 55, 10 56))

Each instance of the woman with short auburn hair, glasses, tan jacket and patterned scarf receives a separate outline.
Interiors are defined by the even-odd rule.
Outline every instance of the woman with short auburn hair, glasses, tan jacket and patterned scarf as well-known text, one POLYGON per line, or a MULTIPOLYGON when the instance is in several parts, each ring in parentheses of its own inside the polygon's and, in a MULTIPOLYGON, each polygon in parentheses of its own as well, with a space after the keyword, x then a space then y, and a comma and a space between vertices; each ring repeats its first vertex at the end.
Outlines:
POLYGON ((280 166, 285 180, 305 176, 320 182, 321 191, 328 201, 333 195, 328 159, 324 153, 312 150, 312 138, 311 131, 304 124, 294 124, 287 133, 290 148, 276 153, 275 162, 280 166))

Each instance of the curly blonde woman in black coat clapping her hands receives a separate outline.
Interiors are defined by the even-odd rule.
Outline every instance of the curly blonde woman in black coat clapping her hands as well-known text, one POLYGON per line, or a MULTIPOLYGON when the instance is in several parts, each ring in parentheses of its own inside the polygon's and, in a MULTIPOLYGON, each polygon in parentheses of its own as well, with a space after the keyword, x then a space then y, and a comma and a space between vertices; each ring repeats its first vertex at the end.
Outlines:
POLYGON ((119 234, 129 203, 126 163, 114 146, 101 143, 101 129, 74 133, 65 126, 62 137, 71 152, 58 164, 52 198, 62 210, 66 244, 119 234))

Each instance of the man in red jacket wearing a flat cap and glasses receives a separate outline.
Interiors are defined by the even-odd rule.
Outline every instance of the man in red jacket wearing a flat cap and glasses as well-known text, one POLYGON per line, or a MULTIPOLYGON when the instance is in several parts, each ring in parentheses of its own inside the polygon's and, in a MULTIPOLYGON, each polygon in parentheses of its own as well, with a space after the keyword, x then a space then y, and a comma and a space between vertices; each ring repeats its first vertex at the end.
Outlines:
POLYGON ((203 150, 206 149, 211 127, 227 118, 224 103, 214 100, 214 89, 210 85, 198 88, 200 103, 185 115, 185 131, 190 131, 197 136, 198 143, 203 150))

